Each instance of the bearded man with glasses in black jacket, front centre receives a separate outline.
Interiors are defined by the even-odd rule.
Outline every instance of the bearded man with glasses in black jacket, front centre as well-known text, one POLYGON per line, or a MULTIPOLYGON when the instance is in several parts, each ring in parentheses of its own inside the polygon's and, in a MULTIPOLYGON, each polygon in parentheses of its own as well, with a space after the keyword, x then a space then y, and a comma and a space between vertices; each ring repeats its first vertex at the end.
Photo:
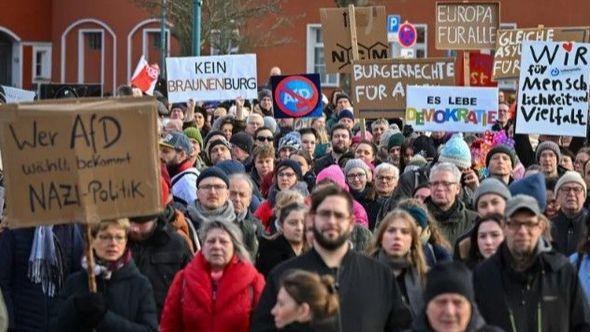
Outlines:
POLYGON ((313 224, 313 248, 268 275, 251 331, 276 330, 270 311, 277 300, 281 276, 292 269, 331 275, 336 280, 340 308, 322 331, 392 331, 408 327, 411 316, 392 273, 350 247, 348 240, 354 226, 350 194, 334 185, 318 189, 311 195, 309 218, 313 224))

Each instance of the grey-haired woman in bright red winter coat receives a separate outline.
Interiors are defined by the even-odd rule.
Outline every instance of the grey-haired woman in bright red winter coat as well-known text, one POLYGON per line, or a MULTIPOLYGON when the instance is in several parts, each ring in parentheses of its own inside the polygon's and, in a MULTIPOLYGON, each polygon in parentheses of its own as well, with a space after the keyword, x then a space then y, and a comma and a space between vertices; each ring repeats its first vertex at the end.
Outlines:
POLYGON ((202 226, 203 249, 178 272, 166 297, 160 331, 244 331, 264 288, 236 225, 202 226))

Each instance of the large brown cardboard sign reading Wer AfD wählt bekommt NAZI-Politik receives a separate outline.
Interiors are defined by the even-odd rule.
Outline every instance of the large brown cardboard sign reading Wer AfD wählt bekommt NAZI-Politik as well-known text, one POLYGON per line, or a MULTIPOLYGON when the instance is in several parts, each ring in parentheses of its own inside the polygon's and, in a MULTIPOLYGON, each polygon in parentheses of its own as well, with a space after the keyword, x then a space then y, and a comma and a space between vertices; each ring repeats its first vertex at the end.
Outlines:
POLYGON ((159 212, 156 117, 152 98, 0 107, 9 227, 159 212))

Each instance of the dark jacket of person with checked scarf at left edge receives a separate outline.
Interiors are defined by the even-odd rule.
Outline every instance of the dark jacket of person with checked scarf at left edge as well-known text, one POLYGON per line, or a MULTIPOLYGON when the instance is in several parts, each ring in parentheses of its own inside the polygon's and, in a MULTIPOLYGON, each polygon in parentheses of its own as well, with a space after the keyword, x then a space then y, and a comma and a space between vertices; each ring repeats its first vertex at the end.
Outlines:
MULTIPOLYGON (((53 226, 53 233, 64 263, 65 282, 71 273, 80 270, 84 253, 82 234, 75 225, 53 226)), ((41 284, 32 283, 27 275, 34 234, 35 228, 22 228, 6 229, 0 235, 0 286, 11 331, 49 329, 49 311, 55 298, 43 294, 41 284)))

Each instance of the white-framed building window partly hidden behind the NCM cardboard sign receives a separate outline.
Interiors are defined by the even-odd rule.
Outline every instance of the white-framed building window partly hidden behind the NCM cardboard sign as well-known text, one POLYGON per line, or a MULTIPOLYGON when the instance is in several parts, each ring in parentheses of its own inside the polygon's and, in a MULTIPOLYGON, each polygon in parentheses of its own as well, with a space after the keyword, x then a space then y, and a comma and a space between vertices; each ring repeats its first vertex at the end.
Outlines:
POLYGON ((320 74, 322 86, 337 87, 340 84, 338 74, 326 73, 324 59, 324 40, 320 24, 308 25, 307 29, 307 72, 320 74))

